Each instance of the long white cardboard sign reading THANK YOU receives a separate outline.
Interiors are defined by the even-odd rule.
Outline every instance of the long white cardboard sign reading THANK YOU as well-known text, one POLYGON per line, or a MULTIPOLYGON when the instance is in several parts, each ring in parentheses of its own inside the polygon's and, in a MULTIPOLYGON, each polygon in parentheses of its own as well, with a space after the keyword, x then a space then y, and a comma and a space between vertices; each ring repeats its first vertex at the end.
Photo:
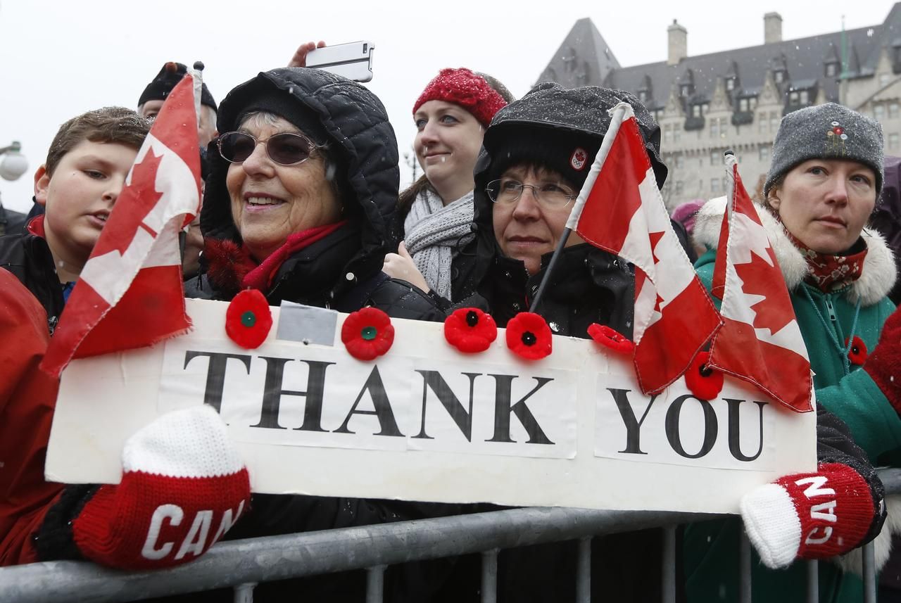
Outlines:
POLYGON ((554 336, 529 362, 499 329, 465 355, 440 323, 399 319, 387 354, 361 362, 341 343, 347 315, 298 306, 272 308, 246 350, 227 306, 188 300, 190 334, 69 365, 47 477, 118 482, 127 437, 205 402, 258 492, 734 513, 753 487, 815 469, 815 413, 729 377, 714 401, 681 379, 644 396, 631 358, 590 340, 554 336))

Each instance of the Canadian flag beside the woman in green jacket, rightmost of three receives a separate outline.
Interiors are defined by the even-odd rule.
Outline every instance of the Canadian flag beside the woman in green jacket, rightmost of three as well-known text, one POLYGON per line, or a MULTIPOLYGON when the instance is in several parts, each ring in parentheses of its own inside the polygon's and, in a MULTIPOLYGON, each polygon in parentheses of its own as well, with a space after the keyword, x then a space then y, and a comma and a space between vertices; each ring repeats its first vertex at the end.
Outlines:
POLYGON ((713 293, 723 300, 723 329, 708 365, 753 383, 796 412, 814 410, 810 358, 766 229, 727 156, 729 195, 716 249, 713 293))

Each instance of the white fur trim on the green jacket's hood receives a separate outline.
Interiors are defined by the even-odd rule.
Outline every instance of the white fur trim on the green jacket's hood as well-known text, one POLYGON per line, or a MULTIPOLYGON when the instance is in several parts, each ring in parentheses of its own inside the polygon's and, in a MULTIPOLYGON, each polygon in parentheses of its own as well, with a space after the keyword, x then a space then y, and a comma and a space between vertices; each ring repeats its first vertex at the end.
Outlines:
MULTIPOLYGON (((726 198, 717 197, 706 202, 697 212, 693 234, 696 243, 716 248, 725 209, 726 198)), ((763 228, 767 230, 788 290, 792 291, 810 274, 810 268, 804 255, 788 238, 785 227, 760 205, 757 206, 757 213, 763 228)), ((895 258, 885 239, 872 229, 863 229, 861 236, 867 244, 863 271, 860 278, 851 284, 844 294, 851 303, 857 303, 860 296, 861 305, 867 307, 886 297, 895 284, 897 275, 895 258)))

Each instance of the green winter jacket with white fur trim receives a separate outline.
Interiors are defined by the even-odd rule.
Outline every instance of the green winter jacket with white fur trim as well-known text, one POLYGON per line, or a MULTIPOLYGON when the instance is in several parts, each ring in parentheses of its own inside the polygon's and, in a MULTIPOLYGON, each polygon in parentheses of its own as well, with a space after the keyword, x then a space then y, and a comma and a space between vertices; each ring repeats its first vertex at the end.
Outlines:
MULTIPOLYGON (((698 258, 695 268, 708 291, 713 281, 724 209, 725 198, 714 199, 698 212, 695 222, 695 241, 708 248, 707 253, 698 258)), ((901 446, 901 419, 859 365, 850 365, 850 373, 845 374, 842 354, 829 332, 842 344, 846 338, 856 335, 868 351, 876 347, 882 324, 895 310, 895 305, 887 298, 896 277, 891 253, 878 234, 865 229, 862 236, 868 252, 860 279, 841 291, 822 293, 804 282, 808 270, 805 258, 787 238, 782 226, 768 211, 759 213, 786 278, 798 326, 815 372, 816 400, 848 424, 854 440, 865 450, 870 461, 875 462, 878 455, 901 446), (858 313, 856 325, 855 313, 858 313)), ((720 301, 714 299, 714 302, 718 306, 720 301)), ((739 518, 686 527, 683 554, 688 603, 738 600, 741 534, 739 518)), ((805 600, 805 563, 794 563, 786 570, 773 571, 762 565, 755 554, 751 580, 755 602, 805 600)), ((833 563, 819 564, 819 582, 821 602, 850 603, 863 599, 860 579, 851 573, 842 573, 833 563)))

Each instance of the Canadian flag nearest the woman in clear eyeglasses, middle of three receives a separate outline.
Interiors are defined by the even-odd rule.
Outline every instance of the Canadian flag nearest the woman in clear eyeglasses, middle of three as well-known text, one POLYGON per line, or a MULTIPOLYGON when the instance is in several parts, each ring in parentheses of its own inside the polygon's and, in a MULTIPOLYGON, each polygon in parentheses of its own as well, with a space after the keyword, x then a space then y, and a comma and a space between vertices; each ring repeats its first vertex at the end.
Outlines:
POLYGON ((656 393, 723 323, 669 222, 632 106, 610 115, 567 228, 635 266, 635 373, 642 392, 656 393))

